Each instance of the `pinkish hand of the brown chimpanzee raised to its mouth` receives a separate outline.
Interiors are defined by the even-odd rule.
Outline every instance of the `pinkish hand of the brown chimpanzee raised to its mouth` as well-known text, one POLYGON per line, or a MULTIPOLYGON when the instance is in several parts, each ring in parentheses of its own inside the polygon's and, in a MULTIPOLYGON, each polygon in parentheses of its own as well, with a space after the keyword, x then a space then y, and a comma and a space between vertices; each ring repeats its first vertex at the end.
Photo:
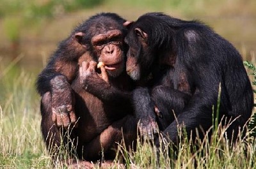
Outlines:
POLYGON ((101 77, 104 81, 108 82, 108 75, 106 73, 104 66, 100 67, 100 71, 101 71, 100 75, 97 74, 96 68, 97 68, 97 62, 95 61, 82 62, 82 65, 79 68, 80 83, 86 85, 86 80, 88 80, 88 78, 90 77, 93 77, 93 78, 101 77))

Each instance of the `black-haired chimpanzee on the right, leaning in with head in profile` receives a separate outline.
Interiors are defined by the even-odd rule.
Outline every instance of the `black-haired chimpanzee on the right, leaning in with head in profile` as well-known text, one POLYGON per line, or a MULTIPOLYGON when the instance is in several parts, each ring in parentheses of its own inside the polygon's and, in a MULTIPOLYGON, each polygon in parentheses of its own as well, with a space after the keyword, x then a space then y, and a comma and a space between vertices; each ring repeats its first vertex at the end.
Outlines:
POLYGON ((202 138, 215 117, 218 124, 234 121, 227 129, 227 136, 231 139, 233 134, 236 140, 239 128, 248 121, 253 108, 252 86, 236 48, 201 22, 163 13, 146 13, 136 22, 124 25, 129 28, 125 37, 129 45, 126 71, 133 80, 144 84, 135 91, 140 96, 134 95, 136 111, 151 112, 148 115, 154 116, 153 105, 162 112, 161 108, 172 103, 173 96, 185 93, 190 97, 188 102, 180 99, 183 106, 177 119, 164 127, 168 142, 179 142, 177 124, 184 124, 188 136, 192 132, 192 138, 197 128, 202 138), (150 101, 143 101, 143 97, 150 95, 150 101))

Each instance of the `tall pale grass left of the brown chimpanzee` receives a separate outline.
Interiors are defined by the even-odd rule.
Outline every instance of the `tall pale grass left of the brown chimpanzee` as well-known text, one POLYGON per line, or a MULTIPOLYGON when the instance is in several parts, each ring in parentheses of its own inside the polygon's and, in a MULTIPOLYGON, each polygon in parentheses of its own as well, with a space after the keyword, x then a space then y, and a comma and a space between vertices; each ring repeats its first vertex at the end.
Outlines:
POLYGON ((14 64, 1 64, 0 72, 0 168, 50 166, 40 133, 35 75, 14 64))

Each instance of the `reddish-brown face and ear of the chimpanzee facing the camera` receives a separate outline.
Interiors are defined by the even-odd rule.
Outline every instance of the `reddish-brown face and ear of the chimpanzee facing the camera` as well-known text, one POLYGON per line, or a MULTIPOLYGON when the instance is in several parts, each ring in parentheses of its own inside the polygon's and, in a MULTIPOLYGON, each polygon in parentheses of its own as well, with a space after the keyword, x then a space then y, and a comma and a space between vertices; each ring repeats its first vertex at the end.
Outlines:
POLYGON ((115 20, 102 22, 93 22, 91 27, 94 29, 86 33, 76 33, 76 38, 90 50, 96 62, 104 63, 110 77, 118 77, 125 68, 124 33, 115 20))

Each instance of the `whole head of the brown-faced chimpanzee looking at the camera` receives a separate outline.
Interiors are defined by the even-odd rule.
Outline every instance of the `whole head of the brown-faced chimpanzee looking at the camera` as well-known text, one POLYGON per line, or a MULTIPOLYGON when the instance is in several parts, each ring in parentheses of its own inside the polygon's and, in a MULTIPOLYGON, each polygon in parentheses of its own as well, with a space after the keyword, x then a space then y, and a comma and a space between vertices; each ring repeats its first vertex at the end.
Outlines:
POLYGON ((96 62, 103 62, 110 77, 117 77, 125 68, 125 20, 115 13, 100 13, 90 17, 74 31, 76 40, 96 62))

